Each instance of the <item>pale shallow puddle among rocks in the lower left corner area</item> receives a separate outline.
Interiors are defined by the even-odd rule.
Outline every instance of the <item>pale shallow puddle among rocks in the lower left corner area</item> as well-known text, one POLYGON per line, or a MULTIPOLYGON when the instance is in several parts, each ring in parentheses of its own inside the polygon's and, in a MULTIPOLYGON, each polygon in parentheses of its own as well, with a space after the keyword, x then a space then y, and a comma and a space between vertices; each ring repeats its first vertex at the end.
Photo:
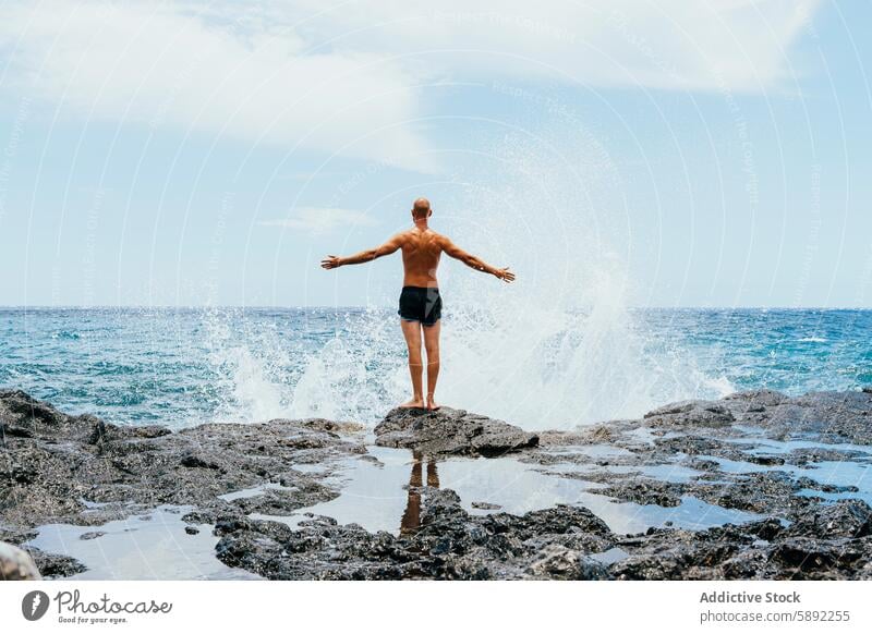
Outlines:
POLYGON ((259 578, 216 559, 218 538, 210 525, 185 533, 185 507, 160 507, 147 515, 109 522, 102 526, 48 524, 24 548, 72 557, 87 571, 70 580, 244 580, 259 578), (148 517, 148 519, 145 519, 148 517), (96 536, 98 533, 105 535, 96 536), (83 538, 83 536, 85 536, 83 538))

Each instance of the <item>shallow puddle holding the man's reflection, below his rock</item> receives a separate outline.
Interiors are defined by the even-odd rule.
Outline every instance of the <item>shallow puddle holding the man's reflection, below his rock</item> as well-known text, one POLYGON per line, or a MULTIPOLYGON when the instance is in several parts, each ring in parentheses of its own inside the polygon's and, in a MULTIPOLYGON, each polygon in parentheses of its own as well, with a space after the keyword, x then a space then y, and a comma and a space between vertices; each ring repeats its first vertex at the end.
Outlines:
MULTIPOLYGON (((520 515, 555 504, 583 505, 616 533, 640 533, 668 522, 676 527, 699 529, 758 517, 691 497, 683 498, 676 508, 616 502, 595 492, 602 487, 600 484, 562 477, 559 473, 543 473, 540 465, 524 464, 513 458, 428 462, 415 461, 407 450, 371 447, 368 451, 378 459, 377 463, 355 459, 341 465, 343 489, 338 498, 300 509, 290 516, 252 514, 251 517, 280 521, 296 528, 300 522, 308 519, 307 513, 314 513, 332 517, 340 524, 354 523, 370 532, 398 535, 420 525, 421 495, 415 487, 423 485, 452 489, 471 514, 502 511, 520 515)), ((571 464, 560 467, 561 473, 586 471, 571 464)), ((690 477, 692 471, 675 465, 643 468, 662 471, 676 478, 690 477)))

